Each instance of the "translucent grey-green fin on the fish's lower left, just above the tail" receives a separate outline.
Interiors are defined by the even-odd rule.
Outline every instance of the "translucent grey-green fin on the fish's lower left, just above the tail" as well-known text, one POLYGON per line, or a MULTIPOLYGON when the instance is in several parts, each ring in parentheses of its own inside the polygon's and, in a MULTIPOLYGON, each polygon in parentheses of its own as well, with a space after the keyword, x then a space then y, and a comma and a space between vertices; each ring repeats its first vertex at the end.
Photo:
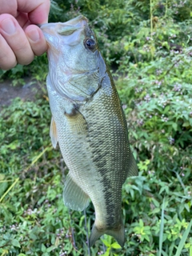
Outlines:
POLYGON ((89 196, 73 181, 68 174, 64 191, 64 204, 72 210, 82 211, 90 204, 89 196))

